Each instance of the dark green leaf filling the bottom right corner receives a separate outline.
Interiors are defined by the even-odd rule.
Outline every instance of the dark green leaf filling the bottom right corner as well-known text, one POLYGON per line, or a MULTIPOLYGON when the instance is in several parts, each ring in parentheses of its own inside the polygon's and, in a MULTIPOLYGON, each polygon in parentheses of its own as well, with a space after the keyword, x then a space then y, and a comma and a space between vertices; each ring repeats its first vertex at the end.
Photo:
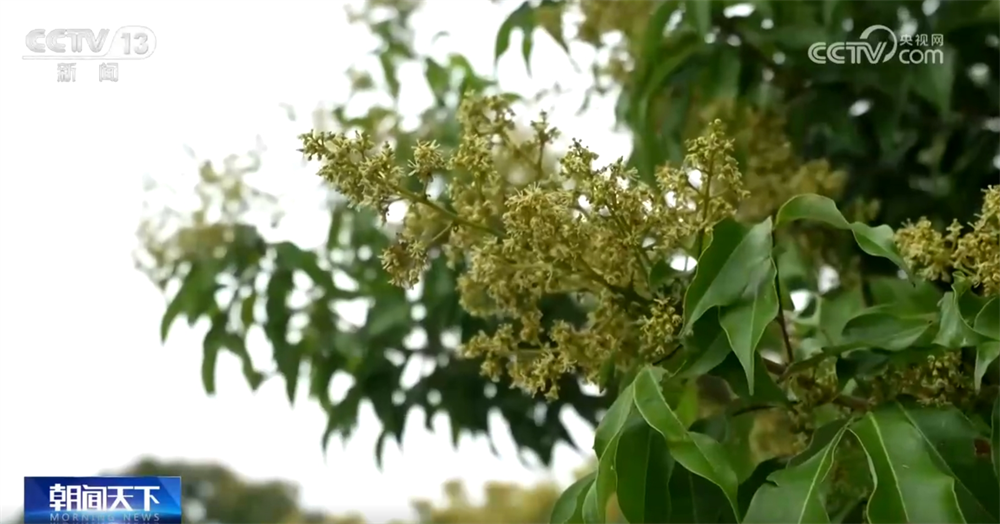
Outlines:
POLYGON ((1000 484, 983 482, 993 466, 983 460, 984 435, 954 407, 894 404, 917 429, 937 467, 955 479, 955 494, 969 522, 1000 522, 1000 484))

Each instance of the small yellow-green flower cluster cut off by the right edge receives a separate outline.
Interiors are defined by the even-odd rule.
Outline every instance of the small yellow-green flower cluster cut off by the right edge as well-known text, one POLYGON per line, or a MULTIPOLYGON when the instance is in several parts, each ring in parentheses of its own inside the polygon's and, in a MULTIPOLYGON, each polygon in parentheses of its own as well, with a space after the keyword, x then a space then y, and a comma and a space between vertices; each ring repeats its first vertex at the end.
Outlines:
POLYGON ((968 227, 952 222, 942 233, 926 218, 896 231, 906 262, 928 280, 962 273, 984 295, 1000 295, 1000 186, 985 190, 982 211, 968 227))

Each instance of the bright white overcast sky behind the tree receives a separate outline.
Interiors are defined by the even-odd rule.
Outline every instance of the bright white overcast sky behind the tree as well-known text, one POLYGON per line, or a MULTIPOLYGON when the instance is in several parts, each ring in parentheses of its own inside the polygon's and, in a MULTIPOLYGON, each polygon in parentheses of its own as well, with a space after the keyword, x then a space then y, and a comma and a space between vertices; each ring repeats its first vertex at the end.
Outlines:
MULTIPOLYGON (((494 35, 516 5, 428 3, 416 22, 423 49, 461 50, 491 72, 494 35), (451 36, 432 46, 440 30, 451 36)), ((344 5, 0 2, 0 520, 18 511, 24 476, 93 475, 146 454, 293 480, 306 505, 359 511, 375 522, 409 516, 412 498, 437 498, 451 478, 478 490, 491 479, 530 483, 550 475, 519 463, 506 428, 495 431, 495 457, 483 440, 453 449, 445 423, 429 433, 417 416, 403 450, 389 444, 379 471, 370 409, 357 436, 334 443, 324 461, 325 421, 315 404, 289 407, 277 381, 251 394, 232 358, 220 360, 219 393, 209 398, 199 378, 198 326, 179 323, 166 345, 158 340, 164 301, 133 269, 130 252, 142 177, 190 183, 196 163, 185 146, 219 160, 253 148, 259 135, 267 152, 254 183, 293 210, 281 234, 314 243, 324 233, 323 214, 310 211, 320 195, 316 179, 294 151, 308 116, 289 122, 279 104, 308 115, 318 103, 343 99, 343 72, 365 60, 372 43, 346 24, 344 5), (21 59, 32 29, 126 25, 150 28, 157 47, 147 60, 120 62, 117 83, 99 83, 93 61, 78 62, 75 83, 57 83, 55 63, 21 59)), ((612 102, 575 117, 585 77, 554 43, 536 40, 535 77, 514 52, 499 65, 504 87, 530 92, 559 81, 576 88, 549 107, 556 123, 607 160, 625 154, 627 140, 610 131, 612 102)), ((519 50, 519 37, 511 47, 519 50)), ((405 111, 428 102, 421 89, 407 92, 405 111)), ((589 447, 586 427, 570 422, 589 447)), ((584 460, 559 449, 556 478, 567 481, 584 460)))

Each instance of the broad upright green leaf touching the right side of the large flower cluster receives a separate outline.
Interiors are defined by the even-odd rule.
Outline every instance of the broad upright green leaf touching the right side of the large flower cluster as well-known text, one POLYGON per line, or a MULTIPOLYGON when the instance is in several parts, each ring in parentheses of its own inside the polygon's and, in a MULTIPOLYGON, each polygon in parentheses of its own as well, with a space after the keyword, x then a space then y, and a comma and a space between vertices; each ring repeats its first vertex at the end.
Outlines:
POLYGON ((771 264, 771 219, 746 229, 733 220, 719 222, 694 279, 684 294, 684 332, 713 307, 733 304, 746 293, 751 275, 771 264))

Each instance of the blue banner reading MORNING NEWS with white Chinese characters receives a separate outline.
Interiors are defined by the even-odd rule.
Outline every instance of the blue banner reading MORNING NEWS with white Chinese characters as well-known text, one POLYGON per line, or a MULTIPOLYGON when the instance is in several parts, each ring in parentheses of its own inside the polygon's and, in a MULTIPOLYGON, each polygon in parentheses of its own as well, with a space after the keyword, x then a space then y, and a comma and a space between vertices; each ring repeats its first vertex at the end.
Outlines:
POLYGON ((180 477, 24 477, 24 524, 181 524, 180 477))

